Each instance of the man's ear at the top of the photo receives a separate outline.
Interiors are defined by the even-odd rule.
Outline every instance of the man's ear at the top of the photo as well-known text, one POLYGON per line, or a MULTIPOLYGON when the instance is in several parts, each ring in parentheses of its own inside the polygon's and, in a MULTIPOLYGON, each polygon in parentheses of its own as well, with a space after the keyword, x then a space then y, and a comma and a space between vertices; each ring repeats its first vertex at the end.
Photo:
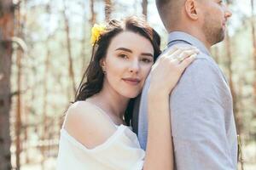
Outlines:
POLYGON ((198 6, 198 2, 196 2, 196 0, 186 0, 185 11, 191 20, 198 20, 199 6, 198 6))

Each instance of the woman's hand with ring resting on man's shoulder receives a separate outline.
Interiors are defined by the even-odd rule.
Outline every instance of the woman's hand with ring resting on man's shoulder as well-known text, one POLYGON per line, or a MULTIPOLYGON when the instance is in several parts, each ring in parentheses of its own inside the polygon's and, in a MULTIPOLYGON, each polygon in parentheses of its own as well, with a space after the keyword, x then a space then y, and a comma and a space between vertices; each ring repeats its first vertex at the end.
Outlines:
POLYGON ((175 46, 160 56, 152 67, 149 92, 169 95, 198 53, 197 48, 186 45, 175 46))

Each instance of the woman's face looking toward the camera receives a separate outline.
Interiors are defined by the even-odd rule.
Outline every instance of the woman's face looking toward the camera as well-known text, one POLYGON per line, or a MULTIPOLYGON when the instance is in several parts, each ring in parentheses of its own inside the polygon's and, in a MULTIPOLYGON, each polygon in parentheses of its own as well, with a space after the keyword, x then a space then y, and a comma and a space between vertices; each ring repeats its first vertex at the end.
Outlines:
POLYGON ((113 37, 101 61, 106 71, 103 86, 126 98, 135 98, 154 63, 154 48, 138 33, 123 31, 113 37))

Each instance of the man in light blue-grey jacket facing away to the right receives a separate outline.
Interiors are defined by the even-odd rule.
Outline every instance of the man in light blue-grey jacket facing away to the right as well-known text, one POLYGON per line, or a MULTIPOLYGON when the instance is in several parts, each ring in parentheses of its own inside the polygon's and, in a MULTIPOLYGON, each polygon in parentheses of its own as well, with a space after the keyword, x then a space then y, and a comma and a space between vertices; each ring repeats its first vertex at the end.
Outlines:
MULTIPOLYGON (((231 13, 221 0, 156 0, 156 5, 169 32, 168 48, 183 43, 201 50, 170 96, 175 169, 236 169, 236 126, 230 88, 209 53, 212 45, 224 40, 231 13)), ((137 130, 143 149, 148 135, 149 83, 150 76, 138 105, 137 130)))

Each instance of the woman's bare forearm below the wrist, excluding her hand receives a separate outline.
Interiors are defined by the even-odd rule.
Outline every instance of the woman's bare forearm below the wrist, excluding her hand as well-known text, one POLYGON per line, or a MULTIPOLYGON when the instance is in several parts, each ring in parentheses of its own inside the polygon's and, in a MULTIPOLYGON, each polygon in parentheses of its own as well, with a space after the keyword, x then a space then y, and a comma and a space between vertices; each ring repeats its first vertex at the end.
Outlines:
POLYGON ((148 93, 148 144, 144 169, 173 169, 169 95, 148 93))

